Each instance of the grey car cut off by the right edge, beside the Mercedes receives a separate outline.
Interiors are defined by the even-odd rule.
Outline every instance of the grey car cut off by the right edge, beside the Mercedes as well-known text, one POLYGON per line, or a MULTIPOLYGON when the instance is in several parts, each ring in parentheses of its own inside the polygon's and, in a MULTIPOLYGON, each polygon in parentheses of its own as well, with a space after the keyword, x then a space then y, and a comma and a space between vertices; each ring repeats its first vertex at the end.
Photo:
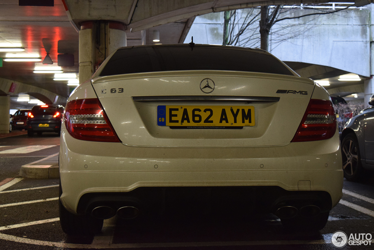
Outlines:
POLYGON ((357 181, 365 170, 374 170, 374 95, 370 107, 351 118, 341 133, 344 177, 357 181))

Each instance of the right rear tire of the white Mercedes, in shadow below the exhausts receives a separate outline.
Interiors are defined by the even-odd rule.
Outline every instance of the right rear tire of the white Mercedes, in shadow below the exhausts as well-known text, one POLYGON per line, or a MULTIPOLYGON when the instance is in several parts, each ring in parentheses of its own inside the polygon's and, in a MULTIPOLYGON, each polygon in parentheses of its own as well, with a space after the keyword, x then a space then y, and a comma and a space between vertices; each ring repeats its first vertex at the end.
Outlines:
POLYGON ((313 217, 295 216, 291 219, 281 219, 282 225, 292 231, 318 231, 325 227, 330 211, 313 217))

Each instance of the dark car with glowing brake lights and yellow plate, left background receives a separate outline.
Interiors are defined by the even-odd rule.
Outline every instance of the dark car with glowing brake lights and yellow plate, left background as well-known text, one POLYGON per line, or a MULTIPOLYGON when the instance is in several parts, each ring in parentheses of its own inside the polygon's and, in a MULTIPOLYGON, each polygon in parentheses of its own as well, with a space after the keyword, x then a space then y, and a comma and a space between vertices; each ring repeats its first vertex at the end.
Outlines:
POLYGON ((33 106, 27 117, 27 134, 33 136, 36 132, 60 133, 61 119, 64 106, 61 105, 37 105, 33 106))

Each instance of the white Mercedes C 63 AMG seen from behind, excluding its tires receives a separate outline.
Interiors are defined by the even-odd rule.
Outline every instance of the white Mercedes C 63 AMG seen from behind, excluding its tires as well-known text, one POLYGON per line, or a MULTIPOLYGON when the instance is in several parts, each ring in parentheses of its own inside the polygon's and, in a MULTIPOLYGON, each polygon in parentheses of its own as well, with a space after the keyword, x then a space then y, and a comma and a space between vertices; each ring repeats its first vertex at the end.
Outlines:
POLYGON ((208 45, 108 58, 68 100, 60 176, 64 208, 99 219, 240 210, 287 223, 328 215, 343 183, 328 93, 267 52, 208 45))

